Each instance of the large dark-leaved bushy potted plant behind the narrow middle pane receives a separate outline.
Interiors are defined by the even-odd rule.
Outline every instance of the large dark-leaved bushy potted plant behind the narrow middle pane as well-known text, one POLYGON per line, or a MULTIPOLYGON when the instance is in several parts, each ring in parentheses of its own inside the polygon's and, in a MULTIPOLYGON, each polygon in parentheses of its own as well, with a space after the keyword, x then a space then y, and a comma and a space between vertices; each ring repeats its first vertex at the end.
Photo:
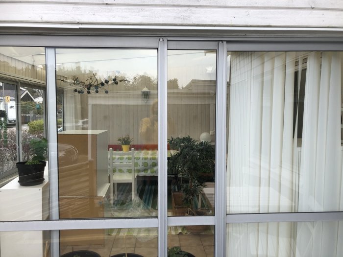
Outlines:
MULTIPOLYGON (((215 169, 215 150, 206 141, 197 142, 190 136, 168 140, 171 149, 177 150, 168 161, 169 172, 177 172, 188 179, 188 184, 179 192, 172 192, 174 215, 203 215, 196 210, 196 199, 205 187, 200 174, 213 173, 215 169), (187 213, 186 213, 187 212, 187 213)), ((198 206, 197 209, 199 209, 198 206)))

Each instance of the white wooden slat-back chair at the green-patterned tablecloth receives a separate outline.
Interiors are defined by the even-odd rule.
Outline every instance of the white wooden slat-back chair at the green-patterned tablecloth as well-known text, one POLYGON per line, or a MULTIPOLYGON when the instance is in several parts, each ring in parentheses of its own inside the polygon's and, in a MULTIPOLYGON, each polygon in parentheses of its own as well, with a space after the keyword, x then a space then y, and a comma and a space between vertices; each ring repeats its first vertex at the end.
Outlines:
POLYGON ((113 184, 114 184, 114 198, 117 199, 118 194, 118 183, 131 183, 131 190, 132 190, 132 200, 136 196, 136 178, 137 173, 135 172, 135 148, 131 148, 131 151, 123 152, 123 151, 113 151, 112 148, 109 150, 109 165, 108 171, 110 174, 110 190, 111 190, 111 203, 113 204, 113 184), (113 163, 113 156, 131 156, 131 160, 125 160, 125 163, 113 163), (113 173, 113 167, 117 169, 115 173, 113 173), (131 169, 131 173, 128 172, 119 172, 118 169, 121 168, 124 170, 131 169))

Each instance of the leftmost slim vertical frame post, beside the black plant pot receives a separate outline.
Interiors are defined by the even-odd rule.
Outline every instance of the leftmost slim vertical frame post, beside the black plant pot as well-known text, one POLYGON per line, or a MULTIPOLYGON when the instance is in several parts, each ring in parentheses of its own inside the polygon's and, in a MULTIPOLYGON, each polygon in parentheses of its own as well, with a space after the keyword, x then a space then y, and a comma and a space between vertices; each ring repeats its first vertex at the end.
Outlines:
MULTIPOLYGON (((57 165, 57 120, 56 120, 56 60, 55 48, 46 47, 50 219, 59 219, 58 210, 58 165, 57 165), (50 143, 51 142, 51 143, 50 143)), ((51 231, 51 256, 59 255, 59 231, 51 231)))

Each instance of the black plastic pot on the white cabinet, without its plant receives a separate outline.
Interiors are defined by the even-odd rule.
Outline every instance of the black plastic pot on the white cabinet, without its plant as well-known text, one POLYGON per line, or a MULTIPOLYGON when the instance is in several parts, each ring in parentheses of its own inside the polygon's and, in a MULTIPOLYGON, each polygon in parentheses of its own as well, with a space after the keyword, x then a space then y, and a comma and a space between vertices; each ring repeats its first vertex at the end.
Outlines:
POLYGON ((25 164, 26 162, 16 163, 19 174, 19 184, 21 186, 34 186, 42 184, 44 181, 44 168, 47 162, 40 164, 25 164))

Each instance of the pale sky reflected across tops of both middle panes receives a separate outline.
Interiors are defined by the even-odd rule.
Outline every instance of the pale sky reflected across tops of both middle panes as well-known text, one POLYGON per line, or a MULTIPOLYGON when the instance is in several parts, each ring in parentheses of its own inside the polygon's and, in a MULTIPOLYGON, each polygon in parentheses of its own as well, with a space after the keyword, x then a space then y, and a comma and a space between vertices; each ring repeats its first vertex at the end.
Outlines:
MULTIPOLYGON (((177 78, 185 87, 192 79, 216 80, 216 52, 168 50, 168 80, 177 78)), ((100 77, 116 73, 127 79, 145 74, 157 78, 156 49, 56 49, 57 67, 92 70, 100 77)), ((75 74, 76 75, 76 74, 75 74)))

